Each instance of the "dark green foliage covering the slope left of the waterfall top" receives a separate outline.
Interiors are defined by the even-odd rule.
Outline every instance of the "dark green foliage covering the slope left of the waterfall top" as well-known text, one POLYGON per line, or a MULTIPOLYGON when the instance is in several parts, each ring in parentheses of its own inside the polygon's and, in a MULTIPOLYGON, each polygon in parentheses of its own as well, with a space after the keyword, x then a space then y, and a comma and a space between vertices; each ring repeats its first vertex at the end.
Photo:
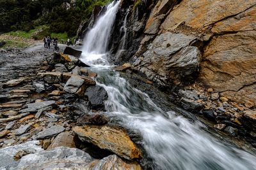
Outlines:
POLYGON ((12 31, 10 34, 29 35, 35 39, 42 39, 52 32, 74 37, 81 21, 92 15, 94 6, 110 1, 77 0, 72 8, 66 9, 63 3, 70 3, 70 0, 0 0, 0 32, 12 31), (31 34, 40 25, 48 27, 31 34))

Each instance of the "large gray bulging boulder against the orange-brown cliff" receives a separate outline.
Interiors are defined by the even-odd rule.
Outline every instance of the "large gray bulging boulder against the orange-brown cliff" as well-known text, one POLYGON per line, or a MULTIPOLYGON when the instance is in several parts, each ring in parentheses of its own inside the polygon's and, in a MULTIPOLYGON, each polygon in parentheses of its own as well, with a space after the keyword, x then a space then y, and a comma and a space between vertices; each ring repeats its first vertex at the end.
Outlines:
POLYGON ((166 32, 154 39, 141 57, 138 71, 149 80, 160 85, 180 81, 198 71, 201 53, 196 46, 190 46, 195 36, 166 32))

